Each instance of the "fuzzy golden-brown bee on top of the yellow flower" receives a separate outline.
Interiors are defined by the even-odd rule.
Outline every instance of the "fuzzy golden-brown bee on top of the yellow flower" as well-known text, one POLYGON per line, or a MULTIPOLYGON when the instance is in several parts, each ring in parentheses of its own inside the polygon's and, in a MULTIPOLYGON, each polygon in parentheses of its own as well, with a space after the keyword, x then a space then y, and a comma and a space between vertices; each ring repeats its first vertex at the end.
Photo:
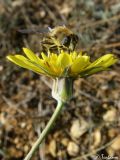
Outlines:
MULTIPOLYGON (((25 33, 25 30, 22 32, 25 33)), ((39 31, 36 33, 38 32, 39 31)), ((34 31, 32 31, 32 33, 34 33, 34 31)), ((57 26, 53 29, 48 27, 48 31, 46 32, 46 30, 44 30, 42 33, 44 35, 41 41, 43 52, 60 53, 61 50, 68 52, 75 50, 76 44, 78 42, 78 36, 66 26, 57 26)))

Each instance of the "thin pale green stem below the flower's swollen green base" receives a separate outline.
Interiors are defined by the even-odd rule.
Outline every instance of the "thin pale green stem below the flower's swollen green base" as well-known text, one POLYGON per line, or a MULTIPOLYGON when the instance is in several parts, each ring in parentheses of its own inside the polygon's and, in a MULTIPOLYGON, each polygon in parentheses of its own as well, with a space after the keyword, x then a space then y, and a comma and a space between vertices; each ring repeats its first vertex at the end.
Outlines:
POLYGON ((49 120, 49 122, 46 125, 45 129, 42 131, 42 133, 40 134, 40 137, 37 139, 35 144, 32 146, 31 150, 29 151, 27 156, 24 158, 24 160, 30 160, 31 157, 33 156, 33 154, 35 153, 35 151, 39 148, 39 145, 44 140, 44 138, 47 136, 47 134, 50 131, 51 127, 53 126, 55 120, 57 119, 57 117, 58 117, 63 105, 64 105, 64 103, 62 101, 58 101, 58 105, 57 105, 57 107, 56 107, 51 119, 49 120))

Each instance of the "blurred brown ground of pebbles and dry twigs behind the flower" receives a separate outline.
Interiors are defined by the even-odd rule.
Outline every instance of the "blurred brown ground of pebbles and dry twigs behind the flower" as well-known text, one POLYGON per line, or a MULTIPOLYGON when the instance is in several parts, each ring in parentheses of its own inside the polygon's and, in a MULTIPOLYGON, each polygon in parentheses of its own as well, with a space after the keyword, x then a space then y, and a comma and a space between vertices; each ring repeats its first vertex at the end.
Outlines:
MULTIPOLYGON (((0 160, 22 160, 50 119, 56 101, 51 79, 6 60, 22 47, 41 50, 43 29, 65 24, 79 36, 77 50, 92 59, 120 57, 120 0, 0 0, 0 160)), ((120 159, 120 62, 78 79, 74 95, 32 160, 120 159), (97 157, 98 155, 98 157, 97 157)))

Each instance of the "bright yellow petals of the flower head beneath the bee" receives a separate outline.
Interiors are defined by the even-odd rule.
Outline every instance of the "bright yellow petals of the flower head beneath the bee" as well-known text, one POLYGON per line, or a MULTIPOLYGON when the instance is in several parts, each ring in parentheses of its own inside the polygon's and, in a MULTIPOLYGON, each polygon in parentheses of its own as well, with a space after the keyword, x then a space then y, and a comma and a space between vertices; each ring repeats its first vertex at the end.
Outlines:
POLYGON ((106 54, 94 62, 90 57, 77 53, 61 51, 60 54, 50 53, 49 56, 41 53, 41 58, 35 55, 30 49, 23 48, 26 55, 8 55, 7 59, 13 63, 53 78, 63 77, 85 77, 91 74, 106 70, 114 64, 117 59, 112 54, 106 54))

